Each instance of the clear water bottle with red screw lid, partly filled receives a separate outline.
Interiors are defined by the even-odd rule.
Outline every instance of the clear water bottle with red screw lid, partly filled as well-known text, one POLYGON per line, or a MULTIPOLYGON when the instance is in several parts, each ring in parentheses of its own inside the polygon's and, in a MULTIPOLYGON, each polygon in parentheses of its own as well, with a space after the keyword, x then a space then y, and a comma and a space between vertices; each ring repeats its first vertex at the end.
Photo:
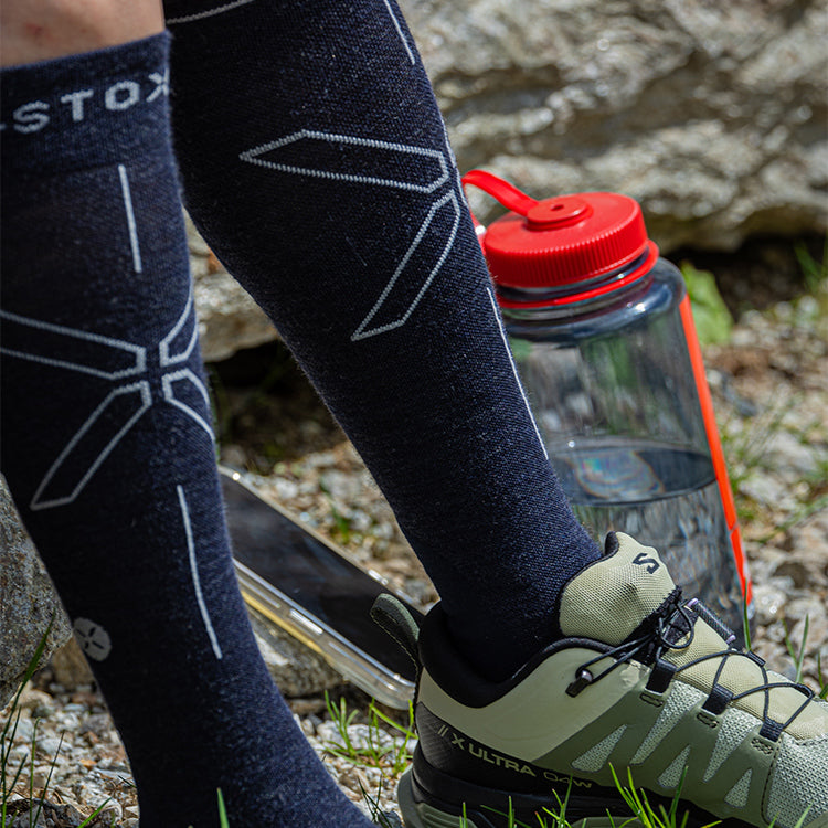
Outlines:
POLYGON ((549 458, 578 519, 656 546, 741 637, 750 577, 690 300, 641 209, 617 193, 535 201, 478 227, 549 458))

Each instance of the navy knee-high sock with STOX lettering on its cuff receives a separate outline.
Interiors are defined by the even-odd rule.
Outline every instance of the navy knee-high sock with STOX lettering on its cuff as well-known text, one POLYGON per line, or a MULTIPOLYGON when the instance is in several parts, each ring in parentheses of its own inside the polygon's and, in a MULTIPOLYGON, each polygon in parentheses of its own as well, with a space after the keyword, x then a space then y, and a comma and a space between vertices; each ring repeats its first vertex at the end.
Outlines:
POLYGON ((362 828, 236 587, 167 35, 2 73, 2 469, 124 737, 141 828, 362 828))

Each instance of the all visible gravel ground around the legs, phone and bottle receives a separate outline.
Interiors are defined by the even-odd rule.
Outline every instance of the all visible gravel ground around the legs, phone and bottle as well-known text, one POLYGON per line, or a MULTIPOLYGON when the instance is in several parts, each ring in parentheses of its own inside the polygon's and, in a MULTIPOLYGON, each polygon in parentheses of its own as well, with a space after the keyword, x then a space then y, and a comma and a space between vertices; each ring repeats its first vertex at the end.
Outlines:
MULTIPOLYGON (((804 677, 814 687, 820 662, 828 673, 827 308, 828 295, 822 295, 778 304, 762 314, 747 312, 730 344, 705 350, 754 580, 754 648, 793 677, 786 638, 798 649, 807 623, 804 677)), ((234 424, 223 459, 267 469, 267 475, 252 476, 263 491, 423 606, 433 602, 434 590, 388 505, 327 413, 310 402, 288 429, 282 429, 287 436, 274 439, 274 417, 278 422, 279 414, 273 406, 279 403, 268 402, 259 392, 252 406, 250 391, 223 389, 226 420, 234 424), (253 434, 242 440, 237 435, 244 426, 253 434)), ((344 697, 359 711, 350 736, 364 743, 367 699, 353 689, 347 689, 344 697)), ((326 745, 340 740, 323 699, 291 703, 305 733, 348 795, 361 802, 363 788, 382 809, 393 809, 394 778, 388 758, 371 767, 332 756, 326 745)), ((390 744, 395 735, 399 739, 389 728, 384 732, 388 735, 382 737, 390 744)), ((103 803, 107 803, 105 814, 93 828, 109 826, 113 817, 123 828, 137 825, 124 749, 92 687, 70 692, 54 681, 49 668, 41 671, 22 696, 11 755, 15 762, 33 761, 35 795, 47 784, 51 805, 44 825, 75 828, 81 815, 103 803)), ((26 772, 15 794, 21 826, 29 826, 22 816, 28 810, 29 783, 26 772)))

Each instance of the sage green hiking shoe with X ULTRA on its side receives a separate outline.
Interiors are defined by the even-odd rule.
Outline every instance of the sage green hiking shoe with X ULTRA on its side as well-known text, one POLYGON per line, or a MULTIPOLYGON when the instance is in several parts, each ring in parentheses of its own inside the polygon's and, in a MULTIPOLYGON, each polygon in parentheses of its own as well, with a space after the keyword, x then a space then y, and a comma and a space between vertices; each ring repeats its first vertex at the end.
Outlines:
POLYGON ((654 549, 606 545, 563 592, 565 638, 500 684, 465 666, 439 605, 418 634, 376 607, 421 662, 406 827, 552 828, 567 788, 570 824, 619 827, 628 768, 657 810, 678 794, 678 826, 828 827, 828 704, 732 646, 654 549))

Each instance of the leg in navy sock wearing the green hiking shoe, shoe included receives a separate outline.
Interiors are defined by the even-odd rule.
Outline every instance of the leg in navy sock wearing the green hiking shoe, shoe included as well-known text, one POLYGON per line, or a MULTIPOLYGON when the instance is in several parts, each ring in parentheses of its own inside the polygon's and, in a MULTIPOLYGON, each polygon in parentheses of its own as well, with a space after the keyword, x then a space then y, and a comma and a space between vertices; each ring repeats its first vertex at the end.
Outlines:
POLYGON ((423 668, 407 825, 534 825, 564 797, 573 822, 619 824, 631 766, 656 807, 683 785, 690 825, 793 828, 809 806, 824 828, 828 705, 730 649, 655 550, 611 534, 598 558, 566 508, 393 1, 167 13, 191 212, 443 599, 418 641, 397 630, 423 668))

